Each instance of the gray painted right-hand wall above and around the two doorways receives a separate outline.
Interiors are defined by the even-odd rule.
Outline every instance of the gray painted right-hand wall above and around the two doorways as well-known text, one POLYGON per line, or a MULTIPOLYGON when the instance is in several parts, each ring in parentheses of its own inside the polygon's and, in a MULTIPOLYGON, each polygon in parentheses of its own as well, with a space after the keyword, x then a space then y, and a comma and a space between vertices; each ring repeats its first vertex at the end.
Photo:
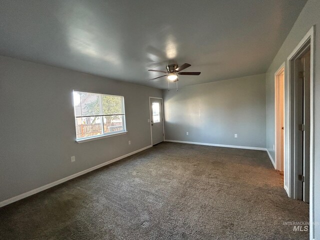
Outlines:
POLYGON ((308 0, 290 30, 288 36, 283 42, 278 53, 274 57, 266 73, 266 146, 271 156, 274 158, 274 72, 282 64, 283 61, 293 51, 294 47, 299 43, 307 31, 315 24, 315 78, 314 78, 314 216, 317 225, 315 225, 315 239, 320 239, 320 1, 308 0))

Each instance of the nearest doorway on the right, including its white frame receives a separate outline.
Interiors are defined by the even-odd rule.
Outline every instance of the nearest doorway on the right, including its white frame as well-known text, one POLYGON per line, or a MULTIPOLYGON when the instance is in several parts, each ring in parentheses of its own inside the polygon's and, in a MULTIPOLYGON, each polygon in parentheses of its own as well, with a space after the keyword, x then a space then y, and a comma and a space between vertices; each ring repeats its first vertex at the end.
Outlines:
MULTIPOLYGON (((312 214, 314 209, 313 51, 314 26, 287 58, 284 124, 284 178, 287 176, 289 179, 288 195, 310 203, 310 222, 314 220, 312 214)), ((310 225, 310 236, 312 230, 313 226, 310 225)))

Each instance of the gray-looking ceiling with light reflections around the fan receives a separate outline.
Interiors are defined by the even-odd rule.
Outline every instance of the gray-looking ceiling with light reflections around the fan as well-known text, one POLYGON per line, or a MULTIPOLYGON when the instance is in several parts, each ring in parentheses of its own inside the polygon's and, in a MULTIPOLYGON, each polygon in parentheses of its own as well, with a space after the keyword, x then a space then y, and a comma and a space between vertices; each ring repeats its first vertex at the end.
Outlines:
MULTIPOLYGON (((262 73, 306 0, 1 0, 0 54, 148 81, 190 63, 179 85, 262 73)), ((172 87, 174 87, 172 85, 172 87)))

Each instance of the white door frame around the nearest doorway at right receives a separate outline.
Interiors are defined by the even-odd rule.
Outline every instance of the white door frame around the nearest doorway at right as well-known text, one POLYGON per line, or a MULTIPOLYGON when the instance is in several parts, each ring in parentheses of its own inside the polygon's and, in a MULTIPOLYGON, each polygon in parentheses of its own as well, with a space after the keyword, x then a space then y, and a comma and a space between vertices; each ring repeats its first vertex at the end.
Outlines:
POLYGON ((284 118, 284 160, 288 165, 286 174, 289 176, 287 193, 289 197, 297 198, 297 160, 295 159, 294 149, 294 109, 292 109, 292 101, 294 100, 294 92, 292 92, 292 76, 290 74, 290 62, 295 58, 296 54, 304 47, 305 43, 310 41, 310 197, 309 197, 309 232, 310 239, 314 236, 314 31, 315 27, 312 26, 310 30, 304 35, 301 41, 297 44, 291 54, 287 57, 287 71, 284 83, 285 88, 285 118, 284 118), (293 124, 292 124, 293 123, 293 124))

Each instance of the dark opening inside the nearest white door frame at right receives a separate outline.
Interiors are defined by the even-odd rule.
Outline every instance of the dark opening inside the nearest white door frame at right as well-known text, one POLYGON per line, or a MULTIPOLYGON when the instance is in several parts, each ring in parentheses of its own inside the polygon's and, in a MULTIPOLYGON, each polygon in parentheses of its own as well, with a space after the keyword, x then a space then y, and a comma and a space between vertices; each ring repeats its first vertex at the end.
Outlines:
POLYGON ((305 202, 309 202, 310 189, 310 48, 308 39, 288 60, 291 197, 305 202))

